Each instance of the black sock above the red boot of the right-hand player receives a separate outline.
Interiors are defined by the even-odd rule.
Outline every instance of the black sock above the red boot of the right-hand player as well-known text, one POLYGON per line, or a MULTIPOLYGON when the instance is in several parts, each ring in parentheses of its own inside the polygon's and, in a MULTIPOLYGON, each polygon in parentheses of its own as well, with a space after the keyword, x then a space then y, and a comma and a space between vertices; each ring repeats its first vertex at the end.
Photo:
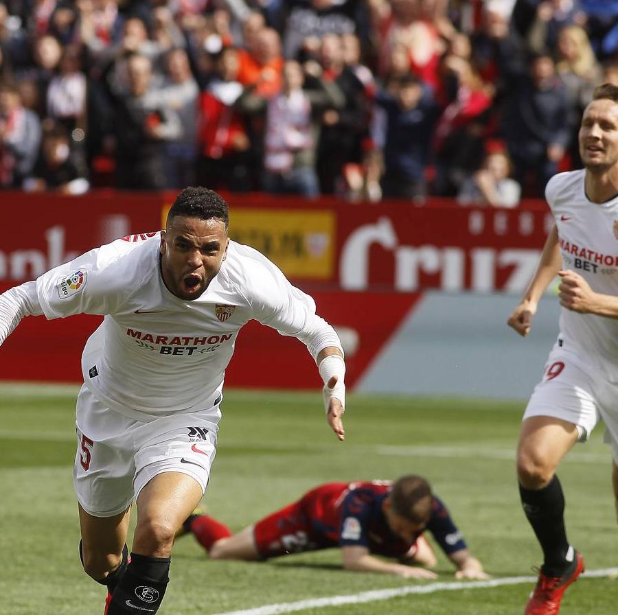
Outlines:
POLYGON ((543 550, 542 570, 549 577, 560 577, 569 567, 569 542, 564 529, 564 494, 554 475, 542 489, 519 485, 524 512, 543 550))

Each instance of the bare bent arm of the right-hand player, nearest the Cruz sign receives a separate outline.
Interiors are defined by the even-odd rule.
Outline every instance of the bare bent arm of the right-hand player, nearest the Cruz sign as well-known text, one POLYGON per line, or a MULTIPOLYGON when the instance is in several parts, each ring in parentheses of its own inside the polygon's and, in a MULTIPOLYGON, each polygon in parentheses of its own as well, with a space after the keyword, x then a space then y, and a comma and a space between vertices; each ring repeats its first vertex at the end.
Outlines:
POLYGON ((520 334, 527 336, 532 327, 532 317, 536 314, 538 302, 549 283, 558 275, 562 268, 562 256, 558 244, 558 229, 553 225, 545 246, 540 255, 534 277, 530 282, 523 299, 509 316, 507 324, 520 334))

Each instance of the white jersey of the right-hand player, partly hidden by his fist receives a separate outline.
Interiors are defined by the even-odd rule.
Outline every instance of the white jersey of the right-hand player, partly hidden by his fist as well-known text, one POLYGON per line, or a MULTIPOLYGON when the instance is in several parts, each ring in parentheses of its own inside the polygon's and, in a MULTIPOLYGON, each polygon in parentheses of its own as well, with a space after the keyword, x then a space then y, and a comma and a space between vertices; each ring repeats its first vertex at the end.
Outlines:
MULTIPOLYGON (((618 296, 618 196, 604 203, 586 198, 585 170, 553 176, 545 188, 556 226, 564 269, 580 274, 592 290, 618 296)), ((618 320, 562 308, 565 345, 610 361, 618 371, 618 320)), ((606 363, 607 365, 607 363, 606 363)))

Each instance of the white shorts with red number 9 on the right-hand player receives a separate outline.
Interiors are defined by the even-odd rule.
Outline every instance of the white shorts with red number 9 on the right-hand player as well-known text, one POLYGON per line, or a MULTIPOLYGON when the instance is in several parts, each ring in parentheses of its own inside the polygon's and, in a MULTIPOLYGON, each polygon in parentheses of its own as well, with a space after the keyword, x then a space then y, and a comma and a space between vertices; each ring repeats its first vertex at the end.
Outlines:
POLYGON ((608 378, 599 358, 558 341, 549 353, 542 380, 529 399, 523 419, 556 417, 580 430, 586 441, 599 419, 606 426, 605 442, 618 463, 618 382, 608 378))

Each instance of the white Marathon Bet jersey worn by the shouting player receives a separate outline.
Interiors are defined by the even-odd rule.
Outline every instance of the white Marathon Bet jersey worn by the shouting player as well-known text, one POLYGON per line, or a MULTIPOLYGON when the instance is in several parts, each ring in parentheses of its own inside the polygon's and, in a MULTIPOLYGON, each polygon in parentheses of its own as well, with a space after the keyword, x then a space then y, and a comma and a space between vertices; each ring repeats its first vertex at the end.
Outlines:
POLYGON ((137 420, 211 408, 238 332, 251 319, 299 338, 314 357, 326 345, 341 347, 313 299, 236 242, 201 297, 179 299, 161 277, 160 238, 130 235, 36 281, 47 318, 105 316, 84 347, 82 373, 106 406, 137 420))

